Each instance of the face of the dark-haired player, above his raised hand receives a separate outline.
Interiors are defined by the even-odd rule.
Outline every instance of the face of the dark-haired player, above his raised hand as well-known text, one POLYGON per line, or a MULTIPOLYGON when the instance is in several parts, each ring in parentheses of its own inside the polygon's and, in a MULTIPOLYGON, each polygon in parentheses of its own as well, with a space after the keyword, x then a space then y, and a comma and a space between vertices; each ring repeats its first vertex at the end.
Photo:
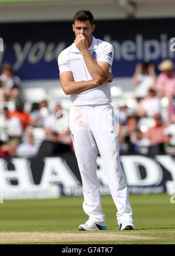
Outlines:
POLYGON ((95 25, 91 25, 89 20, 82 22, 81 20, 75 20, 75 25, 72 25, 75 32, 75 36, 83 34, 86 40, 89 42, 92 39, 92 32, 95 30, 95 25))

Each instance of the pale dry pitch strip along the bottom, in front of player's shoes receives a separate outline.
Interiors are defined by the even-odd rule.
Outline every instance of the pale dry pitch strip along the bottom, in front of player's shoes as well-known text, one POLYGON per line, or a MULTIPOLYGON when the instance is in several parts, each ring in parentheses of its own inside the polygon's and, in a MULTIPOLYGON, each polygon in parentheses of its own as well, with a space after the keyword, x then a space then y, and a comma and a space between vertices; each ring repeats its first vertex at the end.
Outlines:
MULTIPOLYGON (((79 233, 68 232, 2 232, 0 233, 0 244, 17 244, 17 243, 74 243, 74 242, 86 242, 95 243, 100 241, 107 241, 109 244, 111 241, 128 240, 134 242, 134 240, 151 240, 153 237, 138 236, 135 231, 129 232, 129 234, 118 234, 114 232, 94 232, 86 233, 86 231, 80 231, 79 233)), ((155 238, 154 238, 155 239, 155 238)))

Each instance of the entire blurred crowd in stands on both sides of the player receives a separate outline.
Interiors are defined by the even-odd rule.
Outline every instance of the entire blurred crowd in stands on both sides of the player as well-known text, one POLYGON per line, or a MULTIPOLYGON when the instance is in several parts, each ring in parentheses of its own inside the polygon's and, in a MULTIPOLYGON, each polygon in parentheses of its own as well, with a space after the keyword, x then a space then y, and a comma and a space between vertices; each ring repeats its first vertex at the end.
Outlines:
MULTIPOLYGON (((175 132, 174 64, 171 60, 163 60, 157 68, 159 75, 152 63, 136 65, 132 77, 134 110, 124 98, 120 99, 120 111, 116 112, 115 119, 122 154, 164 154, 169 153, 167 148, 175 146, 172 140, 172 129, 175 132)), ((74 153, 68 117, 60 103, 55 103, 51 111, 45 99, 33 103, 30 112, 26 111, 26 102, 20 96, 21 84, 12 65, 3 64, 0 73, 0 157, 74 153), (13 110, 9 110, 9 102, 14 103, 13 110)))

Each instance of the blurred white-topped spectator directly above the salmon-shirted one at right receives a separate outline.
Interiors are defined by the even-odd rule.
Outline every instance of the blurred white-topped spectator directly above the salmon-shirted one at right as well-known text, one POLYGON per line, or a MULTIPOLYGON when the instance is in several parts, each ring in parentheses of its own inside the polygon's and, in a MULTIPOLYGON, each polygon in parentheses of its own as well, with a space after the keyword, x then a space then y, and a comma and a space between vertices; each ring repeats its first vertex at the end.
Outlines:
POLYGON ((154 116, 160 110, 160 99, 156 96, 156 90, 149 88, 146 98, 139 102, 138 116, 154 116))

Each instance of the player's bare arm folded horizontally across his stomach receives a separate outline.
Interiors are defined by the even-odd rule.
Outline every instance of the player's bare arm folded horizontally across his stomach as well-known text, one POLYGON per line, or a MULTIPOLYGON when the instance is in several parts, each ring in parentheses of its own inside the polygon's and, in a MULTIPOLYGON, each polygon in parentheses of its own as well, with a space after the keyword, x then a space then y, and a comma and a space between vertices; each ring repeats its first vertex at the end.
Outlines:
MULTIPOLYGON (((75 82, 71 71, 62 72, 60 74, 60 81, 62 89, 66 95, 80 94, 81 92, 85 92, 89 89, 99 86, 99 84, 97 84, 93 79, 89 81, 75 82)), ((108 73, 107 78, 103 81, 102 84, 106 84, 106 82, 112 81, 113 75, 111 73, 108 73)))

